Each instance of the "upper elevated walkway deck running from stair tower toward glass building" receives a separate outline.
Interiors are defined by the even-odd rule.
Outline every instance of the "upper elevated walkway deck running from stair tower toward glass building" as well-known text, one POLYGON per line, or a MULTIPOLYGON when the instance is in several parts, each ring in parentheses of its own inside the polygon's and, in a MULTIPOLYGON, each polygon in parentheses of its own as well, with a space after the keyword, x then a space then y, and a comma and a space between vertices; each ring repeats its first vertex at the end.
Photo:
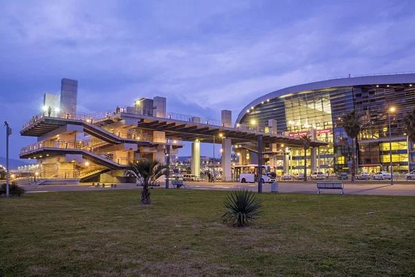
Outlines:
MULTIPOLYGON (((94 115, 86 114, 58 114, 55 117, 44 116, 39 114, 34 120, 23 125, 21 129, 22 136, 42 136, 64 125, 82 125, 84 132, 108 141, 109 143, 137 143, 142 145, 157 145, 160 143, 171 144, 173 148, 180 148, 181 141, 203 141, 212 143, 214 137, 219 141, 219 136, 231 139, 232 143, 244 143, 257 141, 258 136, 262 136, 264 143, 284 143, 289 146, 301 147, 301 141, 297 137, 286 136, 284 134, 270 134, 264 132, 259 127, 250 127, 239 125, 237 128, 214 125, 215 120, 201 120, 201 118, 192 116, 181 116, 167 114, 166 118, 151 116, 152 113, 133 114, 126 112, 127 108, 121 111, 107 111, 94 115), (145 115, 149 114, 149 115, 145 115), (172 116, 174 115, 174 116, 172 116), (139 129, 165 132, 170 138, 142 138, 133 134, 119 133, 113 134, 98 125, 109 124, 120 120, 126 120, 136 124, 139 129), (93 124, 96 123, 96 124, 93 124), (174 139, 174 137, 181 139, 174 139)), ((323 141, 311 141, 311 147, 329 145, 323 141)))

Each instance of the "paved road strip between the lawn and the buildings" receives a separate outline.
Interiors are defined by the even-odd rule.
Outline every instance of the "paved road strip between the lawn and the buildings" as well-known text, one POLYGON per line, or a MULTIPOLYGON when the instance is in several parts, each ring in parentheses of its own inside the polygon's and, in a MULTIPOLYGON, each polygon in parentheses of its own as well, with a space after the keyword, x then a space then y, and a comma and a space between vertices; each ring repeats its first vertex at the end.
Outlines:
MULTIPOLYGON (((44 186, 24 186, 28 193, 44 193, 44 192, 60 192, 60 191, 75 191, 75 190, 125 190, 125 189, 140 189, 140 186, 135 184, 118 184, 117 188, 106 186, 105 188, 95 188, 91 184, 81 185, 44 185, 44 186)), ((164 185, 162 186, 164 188, 164 185)), ((257 191, 257 184, 241 184, 237 182, 187 182, 187 189, 196 190, 237 190, 240 188, 247 188, 248 190, 257 191)), ((271 190, 270 184, 264 184, 264 193, 269 193, 271 190)), ((317 193, 315 183, 301 183, 301 182, 279 182, 279 193, 317 193)), ((339 190, 322 190, 322 193, 340 193, 339 190)), ((349 195, 407 195, 415 196, 415 182, 401 182, 390 186, 387 182, 370 182, 350 184, 344 183, 344 194, 349 195)))

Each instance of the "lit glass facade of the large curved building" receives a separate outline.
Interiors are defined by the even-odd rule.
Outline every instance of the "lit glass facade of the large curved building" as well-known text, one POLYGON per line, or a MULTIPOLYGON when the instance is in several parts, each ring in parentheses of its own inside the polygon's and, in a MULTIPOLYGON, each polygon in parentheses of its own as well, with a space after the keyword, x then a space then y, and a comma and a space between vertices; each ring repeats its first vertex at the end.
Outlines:
MULTIPOLYGON (((394 172, 415 169, 413 145, 407 145, 402 119, 415 105, 415 84, 365 84, 298 91, 272 98, 246 111, 237 123, 267 128, 273 120, 277 134, 298 136, 313 133, 314 139, 330 143, 320 148, 317 168, 322 172, 347 172, 356 153, 359 172, 390 170, 390 152, 394 172), (389 107, 395 111, 388 113, 389 107), (352 143, 341 126, 341 118, 356 110, 361 116, 362 129, 352 143), (391 149, 389 146, 389 119, 391 149), (352 148, 353 146, 353 149, 352 148), (356 151, 357 150, 357 151, 356 151)), ((304 170, 304 150, 289 148, 292 154, 291 172, 304 170)), ((309 152, 309 150, 308 150, 309 152)), ((307 154, 307 163, 310 163, 307 154)), ((277 159, 282 169, 282 159, 277 159)), ((310 166, 310 164, 308 164, 310 166)))

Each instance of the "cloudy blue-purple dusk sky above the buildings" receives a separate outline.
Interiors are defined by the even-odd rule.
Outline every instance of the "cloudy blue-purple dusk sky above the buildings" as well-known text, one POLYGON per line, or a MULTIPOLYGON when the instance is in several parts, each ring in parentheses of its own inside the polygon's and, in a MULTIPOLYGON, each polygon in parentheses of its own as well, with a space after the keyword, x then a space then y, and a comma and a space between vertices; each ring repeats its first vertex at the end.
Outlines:
POLYGON ((80 111, 165 96, 167 111, 220 119, 230 109, 234 120, 251 100, 291 85, 414 71, 414 8, 382 0, 3 0, 0 120, 14 129, 10 157, 35 142, 19 136, 21 125, 62 78, 79 81, 80 111))

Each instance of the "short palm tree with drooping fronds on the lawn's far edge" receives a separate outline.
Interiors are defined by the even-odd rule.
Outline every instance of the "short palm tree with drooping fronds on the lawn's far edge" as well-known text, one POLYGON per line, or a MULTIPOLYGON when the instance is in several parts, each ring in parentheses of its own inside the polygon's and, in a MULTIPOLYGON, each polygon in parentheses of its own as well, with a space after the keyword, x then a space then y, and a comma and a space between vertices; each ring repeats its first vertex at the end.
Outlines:
POLYGON ((162 177, 163 175, 167 177, 169 175, 169 168, 158 160, 149 161, 146 159, 130 163, 129 168, 125 170, 124 175, 133 175, 136 177, 138 182, 142 185, 141 204, 149 205, 151 204, 151 185, 154 184, 159 177, 162 177))

